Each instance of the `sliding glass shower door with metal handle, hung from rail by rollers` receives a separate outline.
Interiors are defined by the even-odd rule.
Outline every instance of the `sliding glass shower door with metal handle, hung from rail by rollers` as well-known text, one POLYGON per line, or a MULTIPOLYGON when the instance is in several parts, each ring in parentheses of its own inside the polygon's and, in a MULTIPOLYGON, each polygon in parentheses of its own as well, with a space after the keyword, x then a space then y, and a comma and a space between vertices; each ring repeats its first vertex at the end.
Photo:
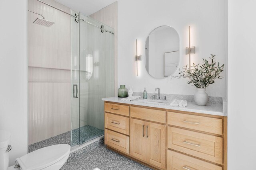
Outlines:
POLYGON ((71 21, 72 146, 104 135, 102 98, 114 96, 114 29, 81 13, 76 16, 71 21))

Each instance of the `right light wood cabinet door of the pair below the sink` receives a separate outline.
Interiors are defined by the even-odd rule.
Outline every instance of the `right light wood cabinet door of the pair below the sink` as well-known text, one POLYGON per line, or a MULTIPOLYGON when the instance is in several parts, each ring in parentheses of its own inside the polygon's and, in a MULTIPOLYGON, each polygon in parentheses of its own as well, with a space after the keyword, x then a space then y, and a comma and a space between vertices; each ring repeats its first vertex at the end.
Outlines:
POLYGON ((149 164, 165 169, 165 125, 146 122, 146 160, 149 164))

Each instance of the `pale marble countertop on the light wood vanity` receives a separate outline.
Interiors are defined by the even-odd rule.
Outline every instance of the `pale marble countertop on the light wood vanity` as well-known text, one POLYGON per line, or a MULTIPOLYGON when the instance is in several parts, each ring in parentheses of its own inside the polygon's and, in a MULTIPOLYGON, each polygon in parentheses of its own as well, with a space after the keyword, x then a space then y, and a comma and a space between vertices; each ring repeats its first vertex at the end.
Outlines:
MULTIPOLYGON (((206 106, 198 106, 194 102, 188 102, 188 106, 186 107, 172 107, 169 105, 155 105, 155 104, 145 104, 142 102, 132 101, 121 101, 122 98, 118 97, 111 97, 111 98, 103 98, 103 101, 107 102, 116 102, 116 103, 122 103, 122 104, 132 104, 132 105, 138 105, 138 106, 148 106, 148 107, 157 107, 157 108, 163 108, 163 109, 172 109, 172 110, 179 110, 179 111, 190 111, 195 113, 204 113, 204 114, 210 114, 210 115, 220 115, 220 116, 227 116, 226 109, 223 107, 226 106, 225 103, 223 104, 212 104, 208 103, 206 106)), ((143 99, 140 99, 143 100, 143 99)), ((224 99, 223 99, 224 100, 224 99)), ((152 100, 154 102, 154 100, 152 100)), ((172 102, 172 101, 170 101, 172 102)), ((225 102, 225 101, 224 101, 225 102)))

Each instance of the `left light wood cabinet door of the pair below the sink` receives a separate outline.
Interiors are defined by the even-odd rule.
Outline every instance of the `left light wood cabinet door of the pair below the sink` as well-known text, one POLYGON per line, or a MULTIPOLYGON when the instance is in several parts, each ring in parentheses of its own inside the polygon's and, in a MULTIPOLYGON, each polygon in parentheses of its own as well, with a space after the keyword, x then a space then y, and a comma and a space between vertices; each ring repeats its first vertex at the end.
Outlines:
POLYGON ((130 154, 146 161, 146 122, 130 120, 130 154))

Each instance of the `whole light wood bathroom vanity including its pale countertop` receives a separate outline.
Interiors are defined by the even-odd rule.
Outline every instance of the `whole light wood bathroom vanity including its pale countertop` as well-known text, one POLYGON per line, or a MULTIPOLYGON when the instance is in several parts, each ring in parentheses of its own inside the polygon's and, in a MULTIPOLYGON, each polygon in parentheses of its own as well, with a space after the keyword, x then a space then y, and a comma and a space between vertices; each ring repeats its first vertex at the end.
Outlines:
POLYGON ((182 108, 102 100, 109 149, 154 169, 227 169, 227 116, 218 104, 182 108))

